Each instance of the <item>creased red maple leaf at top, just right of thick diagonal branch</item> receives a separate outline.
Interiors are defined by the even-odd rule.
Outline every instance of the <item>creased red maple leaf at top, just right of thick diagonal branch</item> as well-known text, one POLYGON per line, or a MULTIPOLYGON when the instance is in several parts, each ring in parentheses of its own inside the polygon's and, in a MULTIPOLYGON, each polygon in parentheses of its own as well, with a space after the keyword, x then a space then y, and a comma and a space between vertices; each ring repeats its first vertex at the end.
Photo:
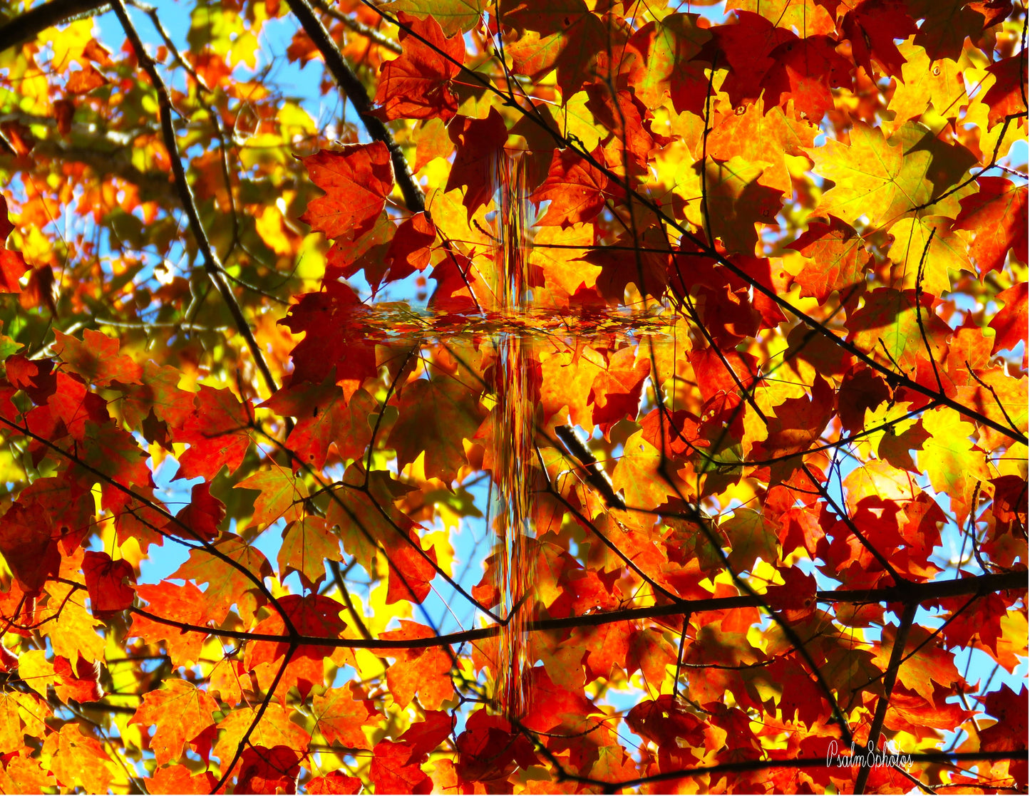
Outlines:
POLYGON ((445 38, 433 16, 423 21, 402 11, 398 21, 404 50, 383 64, 375 102, 387 119, 435 116, 447 123, 457 112, 449 83, 461 72, 465 39, 445 38))

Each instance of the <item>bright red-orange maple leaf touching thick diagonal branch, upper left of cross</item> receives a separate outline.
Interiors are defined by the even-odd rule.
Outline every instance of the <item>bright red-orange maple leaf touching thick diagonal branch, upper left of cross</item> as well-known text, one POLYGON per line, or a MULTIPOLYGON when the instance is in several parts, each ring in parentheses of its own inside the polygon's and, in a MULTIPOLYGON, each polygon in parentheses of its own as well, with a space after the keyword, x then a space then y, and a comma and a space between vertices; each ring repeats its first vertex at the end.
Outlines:
MULTIPOLYGON (((464 47, 462 47, 464 48, 464 47)), ((304 159, 311 181, 325 192, 301 220, 327 238, 354 240, 372 229, 393 188, 393 165, 381 141, 322 149, 304 159)))

